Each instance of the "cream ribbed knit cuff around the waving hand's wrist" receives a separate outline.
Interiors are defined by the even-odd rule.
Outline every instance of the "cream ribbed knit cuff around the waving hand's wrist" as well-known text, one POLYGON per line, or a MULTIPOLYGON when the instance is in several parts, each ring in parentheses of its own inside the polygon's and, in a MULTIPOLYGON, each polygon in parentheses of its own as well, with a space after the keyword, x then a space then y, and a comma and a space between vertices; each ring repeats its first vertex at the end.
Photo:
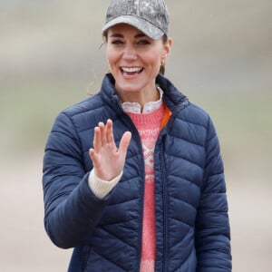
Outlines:
POLYGON ((94 170, 92 169, 88 179, 89 187, 92 189, 92 192, 97 198, 103 199, 112 191, 116 184, 121 180, 121 175, 122 171, 121 174, 118 175, 113 180, 106 181, 99 179, 95 175, 94 170))

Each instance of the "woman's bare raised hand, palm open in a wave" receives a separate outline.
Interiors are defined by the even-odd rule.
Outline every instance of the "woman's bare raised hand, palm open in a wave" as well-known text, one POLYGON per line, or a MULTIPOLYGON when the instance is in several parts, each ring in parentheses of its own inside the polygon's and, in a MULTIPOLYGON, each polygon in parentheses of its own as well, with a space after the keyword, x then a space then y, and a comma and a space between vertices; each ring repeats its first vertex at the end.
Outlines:
POLYGON ((93 148, 89 154, 92 159, 95 175, 102 180, 112 180, 120 175, 127 150, 131 141, 131 132, 125 132, 117 149, 113 137, 112 120, 106 125, 99 122, 94 128, 93 148))

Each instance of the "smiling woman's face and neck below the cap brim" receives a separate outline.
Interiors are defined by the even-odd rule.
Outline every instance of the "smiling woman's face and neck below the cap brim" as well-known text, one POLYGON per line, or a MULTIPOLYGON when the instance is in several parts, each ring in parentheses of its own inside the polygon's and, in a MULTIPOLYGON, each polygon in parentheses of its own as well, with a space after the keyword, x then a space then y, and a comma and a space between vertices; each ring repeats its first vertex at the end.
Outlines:
POLYGON ((106 37, 107 59, 122 101, 154 100, 160 63, 170 53, 170 39, 152 40, 129 24, 117 24, 106 37))

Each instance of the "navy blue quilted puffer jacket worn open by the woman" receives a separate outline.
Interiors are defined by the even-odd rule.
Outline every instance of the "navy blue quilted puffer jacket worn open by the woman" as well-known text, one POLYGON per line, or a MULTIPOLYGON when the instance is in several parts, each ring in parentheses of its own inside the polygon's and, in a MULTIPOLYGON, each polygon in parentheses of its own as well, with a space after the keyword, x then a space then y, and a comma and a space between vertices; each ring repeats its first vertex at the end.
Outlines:
MULTIPOLYGON (((172 115, 154 151, 156 271, 231 271, 216 131, 170 81, 159 75, 157 83, 172 115)), ((107 74, 101 92, 59 114, 45 147, 44 225, 56 246, 74 248, 69 271, 139 271, 144 180, 140 136, 107 74), (98 199, 88 151, 94 127, 109 118, 117 145, 125 131, 132 138, 120 182, 98 199)))

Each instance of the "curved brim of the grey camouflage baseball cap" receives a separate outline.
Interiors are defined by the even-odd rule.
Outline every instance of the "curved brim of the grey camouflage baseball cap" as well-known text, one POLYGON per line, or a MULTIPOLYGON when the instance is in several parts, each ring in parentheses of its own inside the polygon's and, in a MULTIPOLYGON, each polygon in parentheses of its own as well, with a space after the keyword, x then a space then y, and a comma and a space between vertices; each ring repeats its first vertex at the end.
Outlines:
POLYGON ((122 15, 113 19, 103 26, 102 33, 116 24, 130 24, 138 28, 143 34, 146 34, 153 40, 159 40, 164 34, 158 27, 135 15, 122 15))

